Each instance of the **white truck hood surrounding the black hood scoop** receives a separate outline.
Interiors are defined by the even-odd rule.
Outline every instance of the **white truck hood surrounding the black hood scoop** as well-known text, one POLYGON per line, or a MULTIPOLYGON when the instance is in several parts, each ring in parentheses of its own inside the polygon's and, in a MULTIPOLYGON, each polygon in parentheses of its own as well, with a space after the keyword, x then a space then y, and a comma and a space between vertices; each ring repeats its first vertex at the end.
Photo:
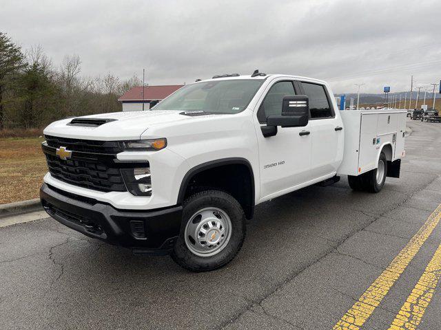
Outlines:
POLYGON ((44 134, 85 140, 139 140, 141 134, 152 126, 192 120, 192 117, 180 113, 182 111, 152 110, 84 115, 74 118, 103 119, 107 122, 99 126, 80 126, 70 124, 74 118, 67 118, 50 124, 44 129, 44 134))

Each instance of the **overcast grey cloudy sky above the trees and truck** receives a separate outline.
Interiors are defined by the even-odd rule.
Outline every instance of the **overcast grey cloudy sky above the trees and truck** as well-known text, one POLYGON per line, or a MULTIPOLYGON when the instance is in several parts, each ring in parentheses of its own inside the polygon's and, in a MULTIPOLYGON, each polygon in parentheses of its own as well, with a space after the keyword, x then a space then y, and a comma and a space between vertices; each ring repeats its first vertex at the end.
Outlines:
POLYGON ((1 0, 0 30, 83 76, 147 83, 254 69, 329 80, 335 93, 380 93, 441 79, 440 0, 1 0))

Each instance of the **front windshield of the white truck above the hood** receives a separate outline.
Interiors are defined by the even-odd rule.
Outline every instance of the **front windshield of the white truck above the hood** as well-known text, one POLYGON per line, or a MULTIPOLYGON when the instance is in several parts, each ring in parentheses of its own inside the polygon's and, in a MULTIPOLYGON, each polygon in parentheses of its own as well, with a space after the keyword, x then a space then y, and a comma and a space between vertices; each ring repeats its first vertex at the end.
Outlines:
POLYGON ((152 109, 239 113, 251 102, 263 81, 263 79, 235 79, 187 85, 152 109))

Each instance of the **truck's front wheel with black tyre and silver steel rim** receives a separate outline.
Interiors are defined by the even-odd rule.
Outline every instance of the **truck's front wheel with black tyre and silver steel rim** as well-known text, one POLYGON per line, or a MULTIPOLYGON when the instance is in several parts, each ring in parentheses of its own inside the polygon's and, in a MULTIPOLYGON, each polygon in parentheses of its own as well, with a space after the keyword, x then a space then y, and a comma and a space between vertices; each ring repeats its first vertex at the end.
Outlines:
POLYGON ((193 272, 223 267, 242 247, 245 230, 245 214, 236 199, 220 190, 198 192, 184 202, 172 259, 193 272))

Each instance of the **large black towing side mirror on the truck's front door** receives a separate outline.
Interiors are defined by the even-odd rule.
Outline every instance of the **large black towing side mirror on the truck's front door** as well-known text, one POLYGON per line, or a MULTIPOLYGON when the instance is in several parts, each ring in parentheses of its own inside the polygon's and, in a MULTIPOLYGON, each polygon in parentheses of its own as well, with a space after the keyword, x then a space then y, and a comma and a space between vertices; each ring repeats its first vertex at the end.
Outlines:
POLYGON ((302 127, 308 124, 309 100, 306 95, 285 96, 282 102, 282 115, 270 115, 267 126, 262 127, 263 136, 277 134, 277 126, 302 127))

